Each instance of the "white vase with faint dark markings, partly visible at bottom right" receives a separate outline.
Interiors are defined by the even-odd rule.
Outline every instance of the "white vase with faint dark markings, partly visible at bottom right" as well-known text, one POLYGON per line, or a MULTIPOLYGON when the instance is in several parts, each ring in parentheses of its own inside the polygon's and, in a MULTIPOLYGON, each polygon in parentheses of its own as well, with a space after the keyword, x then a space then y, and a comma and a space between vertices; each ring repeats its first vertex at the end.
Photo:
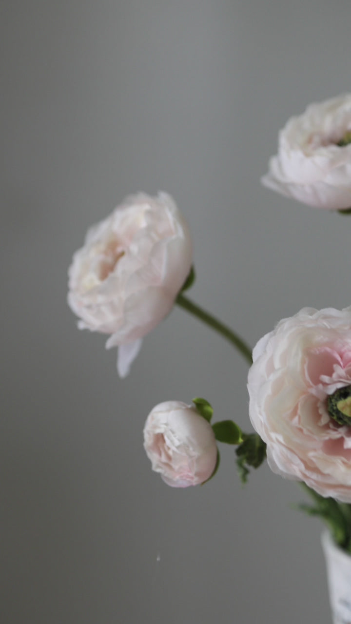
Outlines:
POLYGON ((322 534, 322 547, 333 623, 351 624, 351 555, 334 544, 328 531, 322 534))

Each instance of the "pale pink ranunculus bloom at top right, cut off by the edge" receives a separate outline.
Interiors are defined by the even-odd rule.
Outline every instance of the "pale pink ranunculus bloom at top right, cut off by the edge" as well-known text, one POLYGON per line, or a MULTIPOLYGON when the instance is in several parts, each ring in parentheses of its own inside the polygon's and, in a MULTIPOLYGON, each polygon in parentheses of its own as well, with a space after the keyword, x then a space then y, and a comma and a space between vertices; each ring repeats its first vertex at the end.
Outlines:
POLYGON ((350 132, 351 94, 310 104, 280 130, 278 154, 261 182, 316 208, 351 208, 350 132))

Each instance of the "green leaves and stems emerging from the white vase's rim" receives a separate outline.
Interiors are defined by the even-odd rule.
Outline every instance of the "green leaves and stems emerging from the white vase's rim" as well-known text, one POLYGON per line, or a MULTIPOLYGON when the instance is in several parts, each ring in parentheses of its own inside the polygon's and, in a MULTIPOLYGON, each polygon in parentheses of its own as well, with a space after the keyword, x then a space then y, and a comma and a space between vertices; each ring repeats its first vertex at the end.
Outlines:
POLYGON ((308 515, 319 516, 330 530, 335 544, 351 552, 351 505, 339 503, 332 498, 324 498, 305 483, 301 483, 305 492, 314 501, 313 505, 301 503, 297 509, 308 515))

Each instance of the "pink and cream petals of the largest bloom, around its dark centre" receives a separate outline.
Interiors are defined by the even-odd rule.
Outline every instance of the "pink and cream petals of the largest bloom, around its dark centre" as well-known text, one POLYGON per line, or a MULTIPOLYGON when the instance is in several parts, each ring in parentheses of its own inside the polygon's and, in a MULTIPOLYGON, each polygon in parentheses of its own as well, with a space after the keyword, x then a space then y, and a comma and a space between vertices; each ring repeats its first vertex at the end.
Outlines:
POLYGON ((256 344, 247 387, 250 420, 270 468, 324 497, 351 502, 351 427, 327 396, 351 384, 351 310, 304 308, 256 344))

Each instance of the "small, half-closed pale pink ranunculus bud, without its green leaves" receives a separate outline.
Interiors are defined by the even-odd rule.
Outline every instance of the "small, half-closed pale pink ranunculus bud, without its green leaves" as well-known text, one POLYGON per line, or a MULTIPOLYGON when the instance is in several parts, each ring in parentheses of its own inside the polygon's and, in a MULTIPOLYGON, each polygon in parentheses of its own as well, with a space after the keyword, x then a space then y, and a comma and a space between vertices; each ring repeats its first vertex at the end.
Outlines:
POLYGON ((156 405, 146 419, 144 448, 167 485, 199 485, 214 472, 217 446, 209 422, 181 401, 156 405))

